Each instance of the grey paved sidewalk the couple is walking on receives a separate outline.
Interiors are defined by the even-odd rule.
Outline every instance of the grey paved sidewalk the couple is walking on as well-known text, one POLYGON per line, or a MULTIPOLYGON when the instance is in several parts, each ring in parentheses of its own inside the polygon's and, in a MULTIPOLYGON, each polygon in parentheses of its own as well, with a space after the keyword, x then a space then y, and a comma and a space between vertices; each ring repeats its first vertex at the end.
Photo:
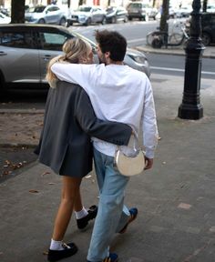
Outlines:
MULTIPOLYGON (((214 83, 201 80, 204 117, 192 121, 176 117, 182 77, 152 75, 151 82, 161 139, 153 169, 128 184, 126 203, 139 215, 112 248, 120 262, 214 262, 214 83)), ((46 261, 60 193, 59 176, 37 162, 0 184, 1 262, 46 261)), ((97 204, 94 173, 82 193, 86 207, 97 204)), ((92 227, 79 232, 72 217, 65 241, 76 242, 79 251, 62 261, 86 261, 92 227)))

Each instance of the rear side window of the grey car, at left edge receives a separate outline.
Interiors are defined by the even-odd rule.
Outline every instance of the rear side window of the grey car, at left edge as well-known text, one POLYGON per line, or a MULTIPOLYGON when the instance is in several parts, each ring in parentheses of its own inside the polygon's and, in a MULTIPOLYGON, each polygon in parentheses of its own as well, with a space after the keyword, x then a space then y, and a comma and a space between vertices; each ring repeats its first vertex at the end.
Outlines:
POLYGON ((30 32, 2 32, 0 44, 15 48, 34 48, 33 39, 30 32))

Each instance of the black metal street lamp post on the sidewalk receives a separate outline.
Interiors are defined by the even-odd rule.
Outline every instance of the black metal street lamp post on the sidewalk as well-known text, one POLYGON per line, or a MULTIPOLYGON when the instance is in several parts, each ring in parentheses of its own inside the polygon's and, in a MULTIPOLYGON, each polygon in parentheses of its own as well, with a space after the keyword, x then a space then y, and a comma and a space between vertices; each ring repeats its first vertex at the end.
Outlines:
POLYGON ((200 104, 200 74, 205 49, 200 38, 200 0, 193 0, 192 8, 189 40, 185 46, 184 92, 178 116, 182 119, 198 120, 203 116, 203 106, 200 104))

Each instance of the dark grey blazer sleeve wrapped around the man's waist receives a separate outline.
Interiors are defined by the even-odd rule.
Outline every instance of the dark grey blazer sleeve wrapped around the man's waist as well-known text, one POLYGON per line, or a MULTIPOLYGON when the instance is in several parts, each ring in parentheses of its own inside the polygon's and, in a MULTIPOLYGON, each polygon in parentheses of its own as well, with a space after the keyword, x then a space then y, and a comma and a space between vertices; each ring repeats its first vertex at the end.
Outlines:
POLYGON ((127 146, 132 128, 126 124, 97 118, 87 93, 82 90, 76 106, 77 122, 89 136, 118 146, 127 146))

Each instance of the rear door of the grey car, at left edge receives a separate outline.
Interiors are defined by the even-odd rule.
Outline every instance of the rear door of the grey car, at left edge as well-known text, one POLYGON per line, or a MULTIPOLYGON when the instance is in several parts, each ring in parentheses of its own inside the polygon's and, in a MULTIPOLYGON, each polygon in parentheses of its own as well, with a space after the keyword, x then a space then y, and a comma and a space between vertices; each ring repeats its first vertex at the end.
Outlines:
POLYGON ((39 85, 39 57, 31 29, 8 26, 1 31, 0 70, 5 84, 11 87, 39 85))

